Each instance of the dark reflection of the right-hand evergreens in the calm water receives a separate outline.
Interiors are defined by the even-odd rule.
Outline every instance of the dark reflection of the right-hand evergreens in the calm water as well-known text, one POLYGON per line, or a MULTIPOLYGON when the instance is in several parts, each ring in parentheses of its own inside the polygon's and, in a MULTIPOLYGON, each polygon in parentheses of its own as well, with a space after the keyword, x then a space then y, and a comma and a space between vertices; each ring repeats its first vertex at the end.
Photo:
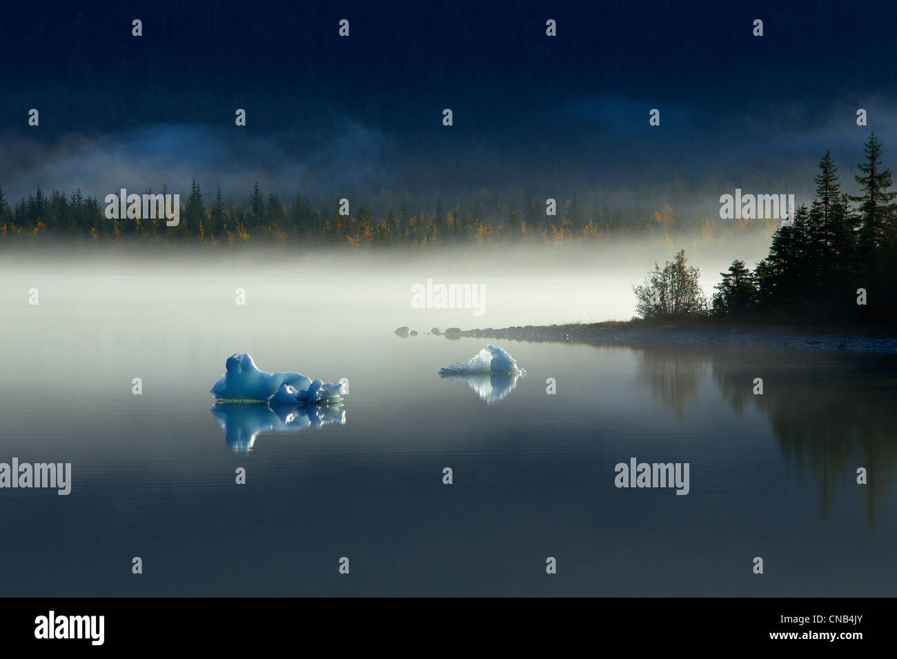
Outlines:
POLYGON ((860 487, 870 528, 897 472, 897 360, 887 355, 783 351, 639 349, 640 380, 682 419, 712 381, 736 414, 764 412, 788 464, 813 474, 823 515, 836 494, 860 487), (753 393, 762 377, 763 393, 753 393), (857 470, 867 484, 857 484, 857 470))

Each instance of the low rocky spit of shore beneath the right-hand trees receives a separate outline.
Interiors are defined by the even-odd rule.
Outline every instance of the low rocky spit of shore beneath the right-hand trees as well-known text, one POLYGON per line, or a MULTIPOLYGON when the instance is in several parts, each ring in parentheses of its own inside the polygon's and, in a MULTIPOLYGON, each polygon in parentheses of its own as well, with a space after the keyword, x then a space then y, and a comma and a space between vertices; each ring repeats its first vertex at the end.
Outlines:
MULTIPOLYGON (((405 328, 399 328, 405 329, 405 328)), ((436 328, 434 328, 436 330, 436 328)), ((399 334, 396 330, 396 334, 399 334)), ((779 348, 801 351, 897 354, 897 336, 851 333, 847 330, 803 328, 737 327, 732 325, 641 325, 598 323, 596 325, 527 325, 501 329, 461 330, 450 327, 448 339, 509 339, 554 343, 606 343, 619 345, 688 345, 727 348, 779 348)), ((401 335, 401 334, 399 334, 401 335)))

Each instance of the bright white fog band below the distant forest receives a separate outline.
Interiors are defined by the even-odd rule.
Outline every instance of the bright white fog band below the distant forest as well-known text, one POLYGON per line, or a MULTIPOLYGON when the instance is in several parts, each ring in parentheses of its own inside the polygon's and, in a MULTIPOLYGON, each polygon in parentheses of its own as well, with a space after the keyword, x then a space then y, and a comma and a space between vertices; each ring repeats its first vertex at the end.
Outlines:
POLYGON ((210 305, 221 307, 205 318, 210 327, 234 322, 234 308, 258 323, 299 312, 302 321, 290 330, 307 336, 334 323, 355 331, 590 323, 630 319, 632 286, 655 262, 672 260, 680 247, 701 269, 710 299, 719 273, 733 259, 753 266, 768 246, 766 236, 745 235, 697 250, 613 242, 426 251, 59 247, 0 253, 0 305, 4 316, 27 310, 29 290, 36 288, 47 311, 99 305, 100 316, 103 308, 130 308, 143 316, 152 309, 159 327, 208 314, 210 305), (438 308, 440 284, 470 284, 471 308, 438 308), (245 305, 238 305, 238 289, 245 305))

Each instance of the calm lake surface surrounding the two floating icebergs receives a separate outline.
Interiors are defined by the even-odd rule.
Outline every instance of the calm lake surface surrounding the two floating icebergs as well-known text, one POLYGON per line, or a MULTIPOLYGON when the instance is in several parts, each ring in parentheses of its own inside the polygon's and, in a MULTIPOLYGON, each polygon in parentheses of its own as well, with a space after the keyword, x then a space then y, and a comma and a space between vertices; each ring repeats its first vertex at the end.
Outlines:
POLYGON ((0 490, 0 594, 895 594, 893 358, 499 342, 527 370, 504 391, 437 375, 485 341, 393 330, 513 308, 246 281, 4 272, 0 462, 71 463, 72 491, 0 490), (322 418, 213 410, 244 351, 349 394, 322 418), (690 464, 688 495, 615 487, 631 457, 690 464))

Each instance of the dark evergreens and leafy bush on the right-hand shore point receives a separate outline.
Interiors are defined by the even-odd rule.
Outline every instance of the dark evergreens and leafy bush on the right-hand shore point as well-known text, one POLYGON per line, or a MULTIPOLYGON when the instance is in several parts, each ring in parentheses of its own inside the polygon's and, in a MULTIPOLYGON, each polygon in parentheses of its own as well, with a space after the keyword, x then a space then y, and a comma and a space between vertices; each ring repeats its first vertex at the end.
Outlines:
POLYGON ((875 133, 854 176, 858 195, 841 189, 826 152, 815 195, 772 234, 769 254, 753 270, 736 259, 710 302, 700 272, 684 251, 655 264, 633 287, 643 318, 714 316, 730 320, 893 323, 897 320, 897 191, 875 133))

